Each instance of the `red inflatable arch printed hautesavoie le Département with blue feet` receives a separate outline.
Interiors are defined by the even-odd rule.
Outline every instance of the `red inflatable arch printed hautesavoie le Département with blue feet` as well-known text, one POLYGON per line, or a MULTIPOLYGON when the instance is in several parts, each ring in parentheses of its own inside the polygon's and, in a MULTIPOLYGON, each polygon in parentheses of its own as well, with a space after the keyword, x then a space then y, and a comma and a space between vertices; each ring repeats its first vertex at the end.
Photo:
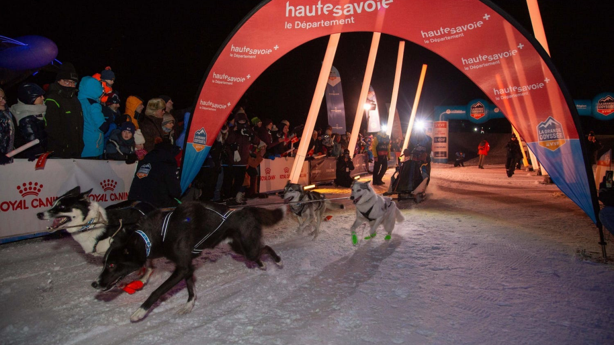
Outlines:
MULTIPOLYGON (((507 18, 486 0, 263 1, 231 33, 203 77, 184 150, 182 188, 268 66, 317 37, 367 31, 414 42, 456 66, 502 110, 562 192, 596 222, 594 180, 580 163, 586 155, 572 98, 541 45, 507 18)), ((604 112, 610 103, 602 101, 604 112)))

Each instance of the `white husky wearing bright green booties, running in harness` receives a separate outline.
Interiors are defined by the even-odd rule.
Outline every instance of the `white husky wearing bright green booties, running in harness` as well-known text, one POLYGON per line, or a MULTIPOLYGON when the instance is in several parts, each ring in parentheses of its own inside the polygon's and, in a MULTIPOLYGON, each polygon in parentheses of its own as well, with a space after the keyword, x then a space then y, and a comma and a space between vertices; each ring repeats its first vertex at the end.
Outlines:
POLYGON ((355 246, 358 242, 356 228, 360 227, 363 223, 368 222, 371 225, 370 235, 365 237, 365 239, 374 238, 375 231, 380 224, 384 225, 384 230, 387 233, 384 239, 391 239, 395 220, 398 223, 405 220, 401 211, 398 211, 397 204, 391 198, 376 194, 370 182, 354 181, 352 183, 350 200, 356 205, 356 221, 354 221, 350 228, 352 242, 355 246))

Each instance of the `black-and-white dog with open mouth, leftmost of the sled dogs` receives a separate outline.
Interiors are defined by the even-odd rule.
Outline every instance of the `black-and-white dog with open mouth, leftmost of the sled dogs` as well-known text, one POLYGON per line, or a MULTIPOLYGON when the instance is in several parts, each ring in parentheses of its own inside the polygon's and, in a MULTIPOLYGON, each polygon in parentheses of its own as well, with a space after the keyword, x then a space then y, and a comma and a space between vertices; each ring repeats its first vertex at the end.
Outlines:
POLYGON ((104 255, 111 236, 119 228, 136 228, 139 220, 155 210, 149 203, 123 201, 106 209, 88 198, 91 189, 81 193, 79 186, 55 200, 53 206, 37 214, 38 219, 53 220, 49 231, 66 229, 85 253, 104 255))

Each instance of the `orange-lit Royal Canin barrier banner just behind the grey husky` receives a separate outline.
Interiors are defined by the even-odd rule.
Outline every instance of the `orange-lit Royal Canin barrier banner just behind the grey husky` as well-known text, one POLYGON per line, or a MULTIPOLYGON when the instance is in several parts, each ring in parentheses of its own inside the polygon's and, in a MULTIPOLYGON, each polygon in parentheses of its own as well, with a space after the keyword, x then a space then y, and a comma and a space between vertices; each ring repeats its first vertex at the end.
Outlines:
MULTIPOLYGON (((274 160, 262 160, 260 163, 260 193, 276 192, 283 190, 290 179, 290 171, 294 157, 282 157, 274 160)), ((309 162, 303 162, 298 183, 309 184, 309 162)))

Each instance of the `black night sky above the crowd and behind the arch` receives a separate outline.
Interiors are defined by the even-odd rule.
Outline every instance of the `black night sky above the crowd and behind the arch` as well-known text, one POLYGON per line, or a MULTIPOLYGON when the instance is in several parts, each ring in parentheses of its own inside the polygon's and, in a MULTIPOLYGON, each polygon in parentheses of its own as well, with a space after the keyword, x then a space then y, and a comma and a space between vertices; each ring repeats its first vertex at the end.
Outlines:
MULTIPOLYGON (((69 2, 33 6, 14 1, 5 9, 2 35, 17 38, 28 34, 45 36, 58 45, 58 60, 71 61, 80 76, 111 66, 114 89, 122 99, 170 95, 176 109, 192 107, 204 73, 236 25, 259 1, 96 2, 68 6, 69 2), (8 21, 7 21, 8 20, 8 21), (7 25, 7 23, 13 23, 7 25)), ((497 0, 527 31, 532 32, 526 2, 497 0)), ((614 2, 538 1, 552 60, 573 99, 593 99, 614 90, 612 13, 614 2)), ((6 6, 6 5, 3 5, 6 6)), ((341 34, 333 63, 343 83, 346 117, 353 118, 367 63, 371 33, 341 34)), ((249 117, 287 118, 293 123, 306 118, 327 37, 296 48, 255 80, 239 102, 249 117)), ((394 80, 398 38, 382 35, 371 85, 378 103, 389 103, 394 80)), ((454 66, 435 53, 406 42, 402 83, 397 109, 409 114, 416 93, 421 65, 429 65, 418 114, 432 114, 434 106, 463 105, 475 98, 487 99, 482 91, 454 66)), ((31 77, 39 84, 53 81, 55 74, 41 72, 31 77)), ((9 104, 15 103, 14 88, 7 88, 9 104), (11 97, 13 98, 11 99, 11 97)), ((123 109, 123 108, 122 108, 123 109)), ((581 117, 583 129, 597 134, 614 133, 614 124, 581 117)), ((326 125, 325 101, 317 123, 326 125)), ((351 128, 351 121, 348 122, 351 128)), ((460 123, 472 126, 470 123, 460 123)), ((509 131, 505 120, 491 120, 485 127, 509 131), (503 122, 503 123, 502 123, 503 122)))

